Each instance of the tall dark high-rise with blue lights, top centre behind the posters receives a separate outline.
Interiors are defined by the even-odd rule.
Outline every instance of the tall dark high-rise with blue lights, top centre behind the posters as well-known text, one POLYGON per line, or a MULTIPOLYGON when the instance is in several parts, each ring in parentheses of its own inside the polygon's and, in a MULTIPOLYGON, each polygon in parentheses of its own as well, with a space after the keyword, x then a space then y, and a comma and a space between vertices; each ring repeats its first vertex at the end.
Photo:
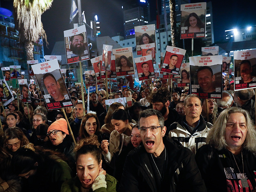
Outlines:
POLYGON ((124 38, 134 38, 134 27, 146 25, 150 21, 148 0, 127 0, 122 5, 124 18, 124 38))

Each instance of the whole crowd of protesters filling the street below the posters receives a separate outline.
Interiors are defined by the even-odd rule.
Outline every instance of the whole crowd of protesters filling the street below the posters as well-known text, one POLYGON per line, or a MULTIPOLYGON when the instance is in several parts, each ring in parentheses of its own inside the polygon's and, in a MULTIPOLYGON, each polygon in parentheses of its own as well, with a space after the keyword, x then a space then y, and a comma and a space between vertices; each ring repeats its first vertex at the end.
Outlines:
POLYGON ((68 120, 36 84, 30 104, 13 91, 1 107, 0 192, 256 191, 254 90, 234 92, 224 76, 222 99, 206 100, 168 82, 84 93, 85 108, 73 87, 68 120), (122 97, 132 106, 107 110, 122 97))

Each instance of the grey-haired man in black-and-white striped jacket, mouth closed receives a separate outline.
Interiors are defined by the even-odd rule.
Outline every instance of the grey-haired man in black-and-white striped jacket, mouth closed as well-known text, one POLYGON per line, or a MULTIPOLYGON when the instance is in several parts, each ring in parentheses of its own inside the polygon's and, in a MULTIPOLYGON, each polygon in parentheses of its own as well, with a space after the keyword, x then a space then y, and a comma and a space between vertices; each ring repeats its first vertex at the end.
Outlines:
POLYGON ((184 111, 186 115, 168 128, 169 137, 196 154, 196 150, 206 144, 206 137, 212 124, 205 122, 201 116, 202 102, 196 94, 186 96, 184 111))

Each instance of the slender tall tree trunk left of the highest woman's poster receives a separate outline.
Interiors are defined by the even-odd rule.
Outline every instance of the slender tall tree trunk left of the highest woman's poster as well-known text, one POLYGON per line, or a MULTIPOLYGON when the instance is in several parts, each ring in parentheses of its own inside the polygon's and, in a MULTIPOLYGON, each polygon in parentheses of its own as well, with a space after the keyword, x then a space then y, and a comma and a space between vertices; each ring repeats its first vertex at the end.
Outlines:
POLYGON ((175 10, 175 0, 169 0, 170 5, 170 23, 171 23, 171 39, 172 46, 176 47, 176 10, 175 10))

